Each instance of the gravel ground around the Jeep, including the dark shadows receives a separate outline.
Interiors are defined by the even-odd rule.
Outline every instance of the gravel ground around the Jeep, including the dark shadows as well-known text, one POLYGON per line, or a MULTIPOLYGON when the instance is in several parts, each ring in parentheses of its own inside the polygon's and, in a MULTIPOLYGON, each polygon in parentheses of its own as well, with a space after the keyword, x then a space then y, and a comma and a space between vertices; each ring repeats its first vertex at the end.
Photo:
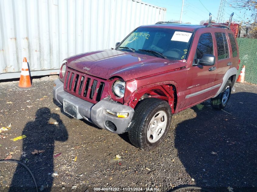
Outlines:
MULTIPOLYGON (((165 141, 145 152, 132 146, 126 133, 116 135, 65 115, 53 101, 52 79, 33 79, 35 89, 22 91, 16 84, 0 83, 0 127, 12 123, 1 133, 0 159, 12 154, 12 160, 26 164, 43 191, 172 191, 184 186, 257 190, 257 86, 236 83, 223 111, 206 101, 174 115, 165 141), (26 138, 10 140, 21 135, 26 138), (35 149, 44 152, 33 155, 35 149), (111 162, 117 154, 122 161, 111 162)), ((9 189, 35 191, 24 167, 0 163, 0 191, 9 189)))

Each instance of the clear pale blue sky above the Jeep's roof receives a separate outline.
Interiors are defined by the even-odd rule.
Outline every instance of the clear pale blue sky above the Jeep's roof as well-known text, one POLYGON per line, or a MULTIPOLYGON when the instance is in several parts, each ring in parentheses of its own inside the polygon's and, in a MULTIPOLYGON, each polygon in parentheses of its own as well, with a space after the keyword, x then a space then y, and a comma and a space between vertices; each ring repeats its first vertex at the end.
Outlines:
MULTIPOLYGON (((182 0, 142 0, 142 2, 166 8, 165 21, 180 19, 182 0)), ((232 20, 240 20, 240 11, 229 7, 227 2, 228 0, 225 3, 224 22, 229 20, 232 12, 234 12, 232 20)), ((212 20, 216 20, 219 6, 220 0, 184 0, 182 22, 199 24, 202 20, 209 20, 209 12, 212 14, 212 20)))

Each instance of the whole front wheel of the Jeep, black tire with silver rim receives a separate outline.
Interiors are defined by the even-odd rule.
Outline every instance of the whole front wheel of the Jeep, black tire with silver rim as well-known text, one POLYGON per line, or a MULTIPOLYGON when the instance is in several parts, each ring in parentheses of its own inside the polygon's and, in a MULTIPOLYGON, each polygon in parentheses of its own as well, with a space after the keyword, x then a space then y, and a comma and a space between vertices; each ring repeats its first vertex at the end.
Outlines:
POLYGON ((164 100, 148 98, 140 101, 128 132, 131 143, 146 151, 157 147, 168 133, 171 116, 171 108, 164 100))

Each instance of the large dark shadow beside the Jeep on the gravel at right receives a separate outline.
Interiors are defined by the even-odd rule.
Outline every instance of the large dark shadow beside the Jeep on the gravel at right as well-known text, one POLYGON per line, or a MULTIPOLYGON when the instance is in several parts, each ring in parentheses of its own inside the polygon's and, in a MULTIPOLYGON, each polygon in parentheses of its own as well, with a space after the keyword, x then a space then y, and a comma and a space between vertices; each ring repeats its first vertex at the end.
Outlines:
POLYGON ((224 109, 229 113, 201 103, 192 107, 195 118, 177 125, 175 148, 196 186, 214 191, 227 191, 228 186, 251 191, 248 187, 257 186, 256 97, 232 94, 224 109))

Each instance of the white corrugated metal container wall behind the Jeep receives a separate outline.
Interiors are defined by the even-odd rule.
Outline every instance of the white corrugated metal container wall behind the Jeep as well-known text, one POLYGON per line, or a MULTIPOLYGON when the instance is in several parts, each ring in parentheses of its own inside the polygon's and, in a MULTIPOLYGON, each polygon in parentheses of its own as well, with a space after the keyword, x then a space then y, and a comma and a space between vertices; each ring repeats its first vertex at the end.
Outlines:
POLYGON ((165 12, 136 0, 0 0, 0 79, 19 76, 7 72, 20 71, 23 57, 41 71, 114 47, 136 27, 165 20, 165 12))

